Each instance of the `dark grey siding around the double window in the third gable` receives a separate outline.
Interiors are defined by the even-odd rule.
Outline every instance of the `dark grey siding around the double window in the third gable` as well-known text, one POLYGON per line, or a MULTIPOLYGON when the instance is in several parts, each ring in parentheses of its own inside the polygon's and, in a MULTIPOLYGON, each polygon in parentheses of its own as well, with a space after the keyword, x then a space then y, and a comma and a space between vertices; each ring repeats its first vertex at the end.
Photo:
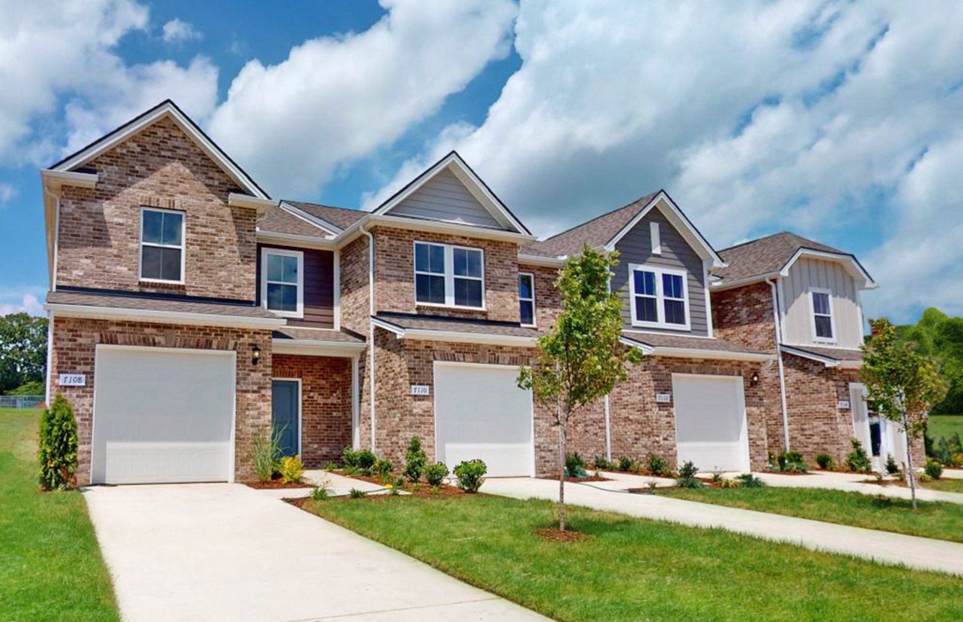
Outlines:
POLYGON ((645 218, 639 220, 636 226, 618 241, 615 249, 619 252, 619 264, 613 271, 615 275, 612 276, 612 290, 617 291, 623 300, 622 318, 625 320, 626 328, 667 334, 709 336, 709 325, 706 321, 706 287, 702 258, 696 254, 689 243, 686 242, 686 239, 672 226, 658 207, 653 208, 645 215, 645 218), (659 223, 659 238, 662 242, 661 255, 652 254, 650 222, 659 223), (688 272, 690 330, 642 328, 632 325, 632 305, 629 300, 629 264, 682 269, 688 272))

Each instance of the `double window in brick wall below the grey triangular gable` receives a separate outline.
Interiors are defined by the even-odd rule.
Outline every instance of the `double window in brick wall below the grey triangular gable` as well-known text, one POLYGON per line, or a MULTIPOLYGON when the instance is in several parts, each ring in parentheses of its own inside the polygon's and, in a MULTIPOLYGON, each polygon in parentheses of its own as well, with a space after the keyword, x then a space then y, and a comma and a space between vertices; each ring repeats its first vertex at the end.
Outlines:
POLYGON ((418 304, 483 309, 481 248, 416 242, 415 300, 418 304))

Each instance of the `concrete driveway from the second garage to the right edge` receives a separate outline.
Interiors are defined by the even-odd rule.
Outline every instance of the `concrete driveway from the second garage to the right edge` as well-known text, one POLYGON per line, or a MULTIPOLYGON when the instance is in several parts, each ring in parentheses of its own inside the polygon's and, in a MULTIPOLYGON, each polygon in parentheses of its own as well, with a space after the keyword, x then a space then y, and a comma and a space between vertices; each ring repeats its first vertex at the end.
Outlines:
MULTIPOLYGON (((818 551, 963 575, 963 544, 724 505, 699 504, 659 495, 632 494, 619 491, 619 487, 628 487, 624 479, 614 483, 565 484, 565 500, 572 505, 585 505, 630 516, 693 527, 717 527, 818 551)), ((559 500, 559 482, 548 479, 485 479, 482 490, 514 499, 559 500)))

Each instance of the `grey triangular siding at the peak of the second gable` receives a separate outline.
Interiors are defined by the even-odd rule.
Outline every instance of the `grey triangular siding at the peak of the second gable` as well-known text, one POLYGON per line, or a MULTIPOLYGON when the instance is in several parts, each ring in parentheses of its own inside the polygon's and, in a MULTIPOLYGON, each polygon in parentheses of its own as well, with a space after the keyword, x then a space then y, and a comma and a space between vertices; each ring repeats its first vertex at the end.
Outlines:
POLYGON ((504 228, 448 169, 425 182, 392 208, 390 214, 504 228))

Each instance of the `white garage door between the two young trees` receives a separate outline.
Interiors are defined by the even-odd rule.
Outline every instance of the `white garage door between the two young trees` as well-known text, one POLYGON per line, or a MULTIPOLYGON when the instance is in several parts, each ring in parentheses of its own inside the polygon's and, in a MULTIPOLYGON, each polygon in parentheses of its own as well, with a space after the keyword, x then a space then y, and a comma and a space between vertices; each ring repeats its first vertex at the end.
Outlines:
POLYGON ((749 437, 741 376, 672 375, 679 464, 748 471, 749 437))

